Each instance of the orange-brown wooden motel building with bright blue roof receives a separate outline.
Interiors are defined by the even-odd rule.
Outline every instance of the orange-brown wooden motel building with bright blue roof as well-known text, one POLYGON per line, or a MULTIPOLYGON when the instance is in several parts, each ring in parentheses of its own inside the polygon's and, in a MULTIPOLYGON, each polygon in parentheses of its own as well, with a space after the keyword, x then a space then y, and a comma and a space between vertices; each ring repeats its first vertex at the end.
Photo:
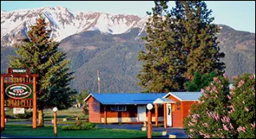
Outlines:
POLYGON ((152 122, 163 123, 164 128, 183 128, 183 120, 202 92, 145 93, 92 93, 87 98, 89 122, 143 123, 148 122, 148 103, 152 103, 152 122))

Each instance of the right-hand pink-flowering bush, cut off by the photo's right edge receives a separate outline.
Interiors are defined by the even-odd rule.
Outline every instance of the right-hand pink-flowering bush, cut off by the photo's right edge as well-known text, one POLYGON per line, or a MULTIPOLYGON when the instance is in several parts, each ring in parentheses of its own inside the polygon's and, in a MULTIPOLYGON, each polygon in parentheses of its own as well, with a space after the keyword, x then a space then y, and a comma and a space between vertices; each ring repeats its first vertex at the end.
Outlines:
POLYGON ((230 91, 230 118, 238 138, 255 138, 255 79, 244 74, 234 77, 234 88, 230 91))

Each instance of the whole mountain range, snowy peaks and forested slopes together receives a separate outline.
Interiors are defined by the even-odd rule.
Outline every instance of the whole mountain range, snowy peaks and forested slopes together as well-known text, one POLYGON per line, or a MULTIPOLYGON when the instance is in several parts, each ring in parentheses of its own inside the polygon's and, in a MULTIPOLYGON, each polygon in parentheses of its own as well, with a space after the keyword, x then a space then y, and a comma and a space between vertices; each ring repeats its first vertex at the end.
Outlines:
MULTIPOLYGON (((65 7, 43 7, 33 10, 1 10, 1 73, 8 68, 12 46, 27 37, 29 26, 41 14, 49 22, 51 37, 60 41, 67 52, 70 67, 76 71, 71 86, 77 91, 97 91, 96 71, 100 71, 102 92, 139 92, 136 75, 142 68, 138 51, 144 50, 147 16, 72 12, 65 7)), ((255 33, 219 25, 219 47, 226 56, 226 74, 255 74, 255 33)))

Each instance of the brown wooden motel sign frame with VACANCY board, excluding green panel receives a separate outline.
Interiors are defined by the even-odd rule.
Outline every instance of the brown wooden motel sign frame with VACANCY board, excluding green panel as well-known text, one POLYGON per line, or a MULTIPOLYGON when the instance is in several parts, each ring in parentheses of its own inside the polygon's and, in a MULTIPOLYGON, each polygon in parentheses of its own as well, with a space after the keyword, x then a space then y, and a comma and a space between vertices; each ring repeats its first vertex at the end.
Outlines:
MULTIPOLYGON (((30 68, 8 68, 7 74, 1 74, 1 131, 5 130, 5 107, 33 108, 33 129, 37 129, 37 87, 36 77, 30 68), (33 98, 6 98, 6 84, 33 85, 33 98)), ((26 87, 26 86, 25 86, 26 87)))

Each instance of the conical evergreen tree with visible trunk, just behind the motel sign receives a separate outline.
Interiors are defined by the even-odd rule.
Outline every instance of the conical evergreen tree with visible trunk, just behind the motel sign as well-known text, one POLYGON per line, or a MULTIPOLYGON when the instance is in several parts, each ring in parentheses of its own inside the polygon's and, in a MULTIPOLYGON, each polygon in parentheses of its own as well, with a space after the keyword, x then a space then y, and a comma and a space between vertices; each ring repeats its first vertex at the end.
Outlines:
POLYGON ((43 110, 57 106, 64 110, 72 105, 77 92, 69 87, 73 72, 69 72, 66 54, 58 50, 58 43, 49 39, 51 30, 41 16, 30 26, 29 41, 17 45, 18 57, 10 57, 11 68, 30 68, 37 78, 38 126, 43 126, 43 110))

